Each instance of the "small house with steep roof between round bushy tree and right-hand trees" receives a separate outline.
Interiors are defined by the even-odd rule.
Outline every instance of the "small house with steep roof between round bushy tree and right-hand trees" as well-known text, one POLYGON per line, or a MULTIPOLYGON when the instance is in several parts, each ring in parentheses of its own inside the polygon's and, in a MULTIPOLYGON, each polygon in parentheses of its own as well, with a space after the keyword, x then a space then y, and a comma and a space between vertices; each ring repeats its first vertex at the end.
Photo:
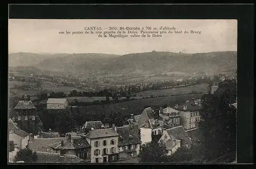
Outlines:
POLYGON ((168 155, 173 155, 180 147, 190 147, 191 138, 182 126, 166 129, 163 131, 159 142, 163 142, 168 150, 168 155))

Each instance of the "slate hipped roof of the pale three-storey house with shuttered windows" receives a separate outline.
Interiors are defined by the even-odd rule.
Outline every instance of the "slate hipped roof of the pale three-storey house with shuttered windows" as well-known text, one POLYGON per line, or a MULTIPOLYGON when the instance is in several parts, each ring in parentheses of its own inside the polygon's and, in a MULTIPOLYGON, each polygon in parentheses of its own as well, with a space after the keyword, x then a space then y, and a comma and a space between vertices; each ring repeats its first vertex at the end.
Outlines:
POLYGON ((119 136, 119 134, 113 128, 91 130, 86 135, 88 138, 102 138, 102 137, 112 137, 119 136))

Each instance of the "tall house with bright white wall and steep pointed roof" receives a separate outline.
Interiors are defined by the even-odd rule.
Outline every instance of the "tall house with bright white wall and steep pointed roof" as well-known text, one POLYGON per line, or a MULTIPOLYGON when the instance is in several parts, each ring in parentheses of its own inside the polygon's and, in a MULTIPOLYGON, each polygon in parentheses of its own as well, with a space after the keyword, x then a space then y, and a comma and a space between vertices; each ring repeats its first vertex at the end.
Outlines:
MULTIPOLYGON (((154 111, 151 107, 147 107, 137 116, 136 122, 140 127, 141 143, 145 144, 152 141, 152 135, 161 135, 163 121, 159 121, 159 112, 154 111)), ((135 120, 135 117, 134 117, 135 120)))

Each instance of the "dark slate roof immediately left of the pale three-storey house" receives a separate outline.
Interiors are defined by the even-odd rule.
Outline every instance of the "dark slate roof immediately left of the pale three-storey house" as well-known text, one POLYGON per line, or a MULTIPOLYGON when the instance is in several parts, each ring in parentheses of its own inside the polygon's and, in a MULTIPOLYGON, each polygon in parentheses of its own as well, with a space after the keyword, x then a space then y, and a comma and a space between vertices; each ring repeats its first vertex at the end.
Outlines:
MULTIPOLYGON (((75 138, 73 140, 74 140, 73 143, 70 142, 69 140, 63 141, 63 149, 75 150, 75 149, 90 147, 90 144, 87 142, 86 138, 75 138)), ((61 142, 49 145, 49 147, 53 149, 61 149, 61 142)))

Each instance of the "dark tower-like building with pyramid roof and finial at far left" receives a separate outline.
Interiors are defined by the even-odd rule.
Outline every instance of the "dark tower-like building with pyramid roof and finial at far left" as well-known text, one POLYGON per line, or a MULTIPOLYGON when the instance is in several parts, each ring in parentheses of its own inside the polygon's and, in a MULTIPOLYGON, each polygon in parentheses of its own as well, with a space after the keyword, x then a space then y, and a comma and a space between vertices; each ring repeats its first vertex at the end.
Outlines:
POLYGON ((28 100, 25 95, 24 101, 19 101, 15 106, 16 115, 12 118, 20 129, 36 134, 42 128, 42 122, 37 115, 36 108, 32 101, 28 100))

